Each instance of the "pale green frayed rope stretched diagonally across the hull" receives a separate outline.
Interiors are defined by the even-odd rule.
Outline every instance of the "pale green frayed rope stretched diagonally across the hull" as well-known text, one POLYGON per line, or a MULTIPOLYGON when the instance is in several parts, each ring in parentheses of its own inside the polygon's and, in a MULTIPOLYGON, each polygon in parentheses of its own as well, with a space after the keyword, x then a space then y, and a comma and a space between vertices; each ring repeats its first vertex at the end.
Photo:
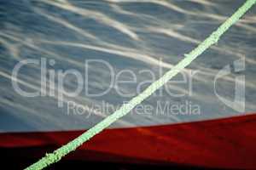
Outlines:
POLYGON ((76 150, 80 145, 84 144, 84 142, 91 139, 97 133, 102 132, 103 129, 117 121, 122 116, 125 116, 136 105, 142 103, 144 99, 147 99, 148 96, 153 94, 158 88, 162 87, 172 77, 175 77, 194 59, 196 59, 200 54, 207 50, 207 48, 212 46, 214 43, 217 43, 218 39, 224 34, 224 32, 227 31, 230 26, 234 25, 236 21, 238 21, 249 8, 253 7, 254 3, 256 3, 256 0, 247 0, 246 3, 237 9, 235 14, 233 14, 228 20, 226 20, 221 26, 218 27, 217 31, 213 31, 212 34, 207 37, 204 42, 201 42, 201 44, 192 50, 189 54, 184 54, 184 59, 175 65, 172 70, 167 71, 163 77, 160 77, 159 80, 148 86, 148 88, 146 88, 143 93, 138 94, 136 97, 131 99, 129 103, 122 105, 119 110, 114 111, 112 115, 106 117, 104 120, 102 120, 102 122, 97 123, 94 127, 91 127, 88 131, 81 134, 76 139, 73 139, 71 142, 61 146, 61 148, 55 150, 53 153, 46 154, 46 156, 32 164, 30 167, 26 167, 26 170, 40 170, 44 167, 48 167, 50 164, 60 161, 61 157, 66 156, 73 150, 76 150))

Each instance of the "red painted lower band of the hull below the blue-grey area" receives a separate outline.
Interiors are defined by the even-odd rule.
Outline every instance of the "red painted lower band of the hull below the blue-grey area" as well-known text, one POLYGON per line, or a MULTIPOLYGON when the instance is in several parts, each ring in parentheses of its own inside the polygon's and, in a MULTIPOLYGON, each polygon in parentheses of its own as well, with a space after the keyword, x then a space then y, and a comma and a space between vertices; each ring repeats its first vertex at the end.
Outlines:
MULTIPOLYGON (((14 158, 23 155, 39 159, 46 151, 83 132, 0 133, 0 147, 6 153, 12 150, 14 158)), ((256 115, 252 114, 204 122, 107 129, 65 159, 256 168, 255 141, 256 115)))

